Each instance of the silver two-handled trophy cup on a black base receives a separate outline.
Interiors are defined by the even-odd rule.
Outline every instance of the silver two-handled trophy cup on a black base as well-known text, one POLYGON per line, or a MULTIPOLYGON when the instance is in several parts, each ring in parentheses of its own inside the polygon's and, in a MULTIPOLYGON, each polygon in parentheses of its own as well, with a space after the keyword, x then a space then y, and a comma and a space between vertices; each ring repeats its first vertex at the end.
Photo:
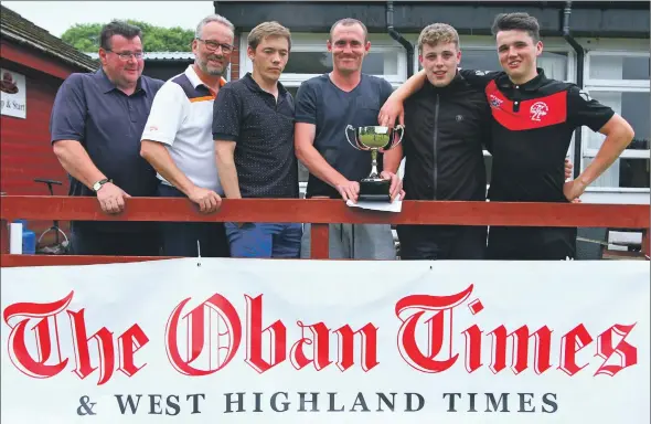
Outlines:
POLYGON ((371 150, 371 174, 360 181, 359 200, 375 200, 391 202, 389 187, 391 181, 380 177, 377 172, 377 151, 391 150, 403 141, 405 127, 398 125, 395 128, 382 126, 345 127, 345 139, 357 150, 371 150), (349 138, 349 130, 352 130, 355 137, 353 144, 349 138), (399 138, 397 132, 399 131, 399 138))

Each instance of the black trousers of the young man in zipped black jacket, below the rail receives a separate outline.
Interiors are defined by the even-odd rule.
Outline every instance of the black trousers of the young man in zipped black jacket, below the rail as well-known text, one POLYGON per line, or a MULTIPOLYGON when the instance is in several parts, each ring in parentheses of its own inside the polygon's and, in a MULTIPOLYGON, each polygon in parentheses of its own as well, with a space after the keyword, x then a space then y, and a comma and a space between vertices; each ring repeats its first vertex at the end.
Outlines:
POLYGON ((468 225, 398 225, 401 259, 483 259, 487 227, 468 225))

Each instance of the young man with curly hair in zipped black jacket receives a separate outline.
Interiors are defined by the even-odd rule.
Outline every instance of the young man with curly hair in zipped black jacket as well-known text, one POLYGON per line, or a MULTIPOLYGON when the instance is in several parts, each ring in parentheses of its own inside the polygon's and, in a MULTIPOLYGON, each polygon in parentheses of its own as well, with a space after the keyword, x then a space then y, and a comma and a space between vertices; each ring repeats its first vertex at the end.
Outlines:
MULTIPOLYGON (((490 150, 491 112, 485 95, 457 72, 459 35, 434 23, 418 38, 427 80, 405 102, 404 147, 384 153, 386 167, 404 157, 407 200, 485 201, 483 148, 490 150)), ((382 124, 385 125, 385 124, 382 124)), ((482 259, 485 226, 398 225, 402 259, 482 259)))

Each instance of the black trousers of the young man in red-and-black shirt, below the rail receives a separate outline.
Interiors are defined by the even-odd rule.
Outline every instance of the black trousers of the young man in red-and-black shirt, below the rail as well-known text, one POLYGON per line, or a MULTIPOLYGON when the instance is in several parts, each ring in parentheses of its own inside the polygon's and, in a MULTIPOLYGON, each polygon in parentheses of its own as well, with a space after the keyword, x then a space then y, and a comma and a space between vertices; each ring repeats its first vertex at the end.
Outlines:
POLYGON ((565 261, 575 257, 575 227, 491 226, 489 231, 489 259, 565 261))

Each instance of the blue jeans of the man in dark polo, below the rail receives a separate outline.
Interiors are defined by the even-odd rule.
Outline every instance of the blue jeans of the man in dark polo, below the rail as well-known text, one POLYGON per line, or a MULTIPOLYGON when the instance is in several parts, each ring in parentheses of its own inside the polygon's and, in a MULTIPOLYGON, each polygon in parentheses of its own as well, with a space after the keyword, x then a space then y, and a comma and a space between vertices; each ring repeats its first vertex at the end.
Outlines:
POLYGON ((299 223, 226 222, 232 257, 300 257, 302 225, 299 223))

